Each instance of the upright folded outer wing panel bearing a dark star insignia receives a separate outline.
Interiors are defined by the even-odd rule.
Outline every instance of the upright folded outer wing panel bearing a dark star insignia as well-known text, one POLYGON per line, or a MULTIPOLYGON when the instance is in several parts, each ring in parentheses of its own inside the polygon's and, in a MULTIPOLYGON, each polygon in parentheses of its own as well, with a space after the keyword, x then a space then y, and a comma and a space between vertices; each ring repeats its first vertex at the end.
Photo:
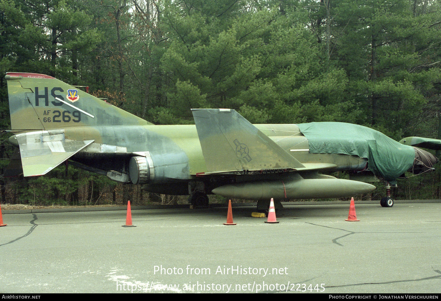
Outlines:
POLYGON ((209 173, 305 168, 235 110, 192 113, 209 173))

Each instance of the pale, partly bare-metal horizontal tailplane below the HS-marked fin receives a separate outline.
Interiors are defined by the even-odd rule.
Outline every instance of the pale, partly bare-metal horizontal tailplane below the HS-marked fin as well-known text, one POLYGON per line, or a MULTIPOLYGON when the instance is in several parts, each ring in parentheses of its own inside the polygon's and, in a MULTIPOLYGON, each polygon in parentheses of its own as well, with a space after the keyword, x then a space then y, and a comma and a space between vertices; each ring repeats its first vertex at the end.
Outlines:
MULTIPOLYGON (((17 134, 23 176, 41 176, 81 151, 94 140, 64 139, 62 130, 38 131, 17 134)), ((17 175, 17 171, 14 172, 17 175)))

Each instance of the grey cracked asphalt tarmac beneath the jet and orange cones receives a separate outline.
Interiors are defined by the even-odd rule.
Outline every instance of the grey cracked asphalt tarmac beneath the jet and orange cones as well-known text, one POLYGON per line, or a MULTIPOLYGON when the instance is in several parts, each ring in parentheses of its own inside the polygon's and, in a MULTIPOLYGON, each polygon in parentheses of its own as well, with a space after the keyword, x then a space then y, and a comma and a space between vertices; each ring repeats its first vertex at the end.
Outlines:
POLYGON ((441 203, 3 214, 0 293, 441 293, 441 203))

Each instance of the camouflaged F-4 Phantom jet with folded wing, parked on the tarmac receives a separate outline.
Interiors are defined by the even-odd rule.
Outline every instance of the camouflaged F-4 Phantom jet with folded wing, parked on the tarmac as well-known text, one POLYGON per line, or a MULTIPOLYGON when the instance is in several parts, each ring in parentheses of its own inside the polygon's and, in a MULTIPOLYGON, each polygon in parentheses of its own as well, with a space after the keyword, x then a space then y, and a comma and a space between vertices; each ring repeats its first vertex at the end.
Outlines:
MULTIPOLYGON (((230 109, 193 109, 195 125, 153 125, 54 77, 7 73, 6 79, 9 141, 19 148, 8 176, 44 175, 69 160, 149 192, 190 195, 194 205, 205 206, 207 195, 216 194, 257 200, 259 209, 270 198, 338 198, 375 189, 325 172, 369 173, 394 184, 405 171, 430 171, 437 162, 360 125, 252 125, 230 109)), ((388 195, 381 205, 393 200, 388 195)))

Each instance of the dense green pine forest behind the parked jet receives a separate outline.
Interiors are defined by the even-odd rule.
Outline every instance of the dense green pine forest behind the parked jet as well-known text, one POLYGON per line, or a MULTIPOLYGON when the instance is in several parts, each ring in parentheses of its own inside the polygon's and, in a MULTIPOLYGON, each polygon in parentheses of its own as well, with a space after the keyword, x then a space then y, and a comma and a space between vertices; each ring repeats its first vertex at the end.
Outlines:
MULTIPOLYGON (((252 123, 342 121, 396 140, 436 138, 440 26, 441 0, 0 0, 1 129, 5 73, 33 72, 89 86, 154 124, 191 124, 190 108, 222 107, 252 123)), ((395 198, 440 198, 440 178, 400 180, 395 198)), ((376 185, 363 198, 384 196, 376 185)), ((178 202, 64 165, 1 176, 0 188, 2 203, 178 202)))

